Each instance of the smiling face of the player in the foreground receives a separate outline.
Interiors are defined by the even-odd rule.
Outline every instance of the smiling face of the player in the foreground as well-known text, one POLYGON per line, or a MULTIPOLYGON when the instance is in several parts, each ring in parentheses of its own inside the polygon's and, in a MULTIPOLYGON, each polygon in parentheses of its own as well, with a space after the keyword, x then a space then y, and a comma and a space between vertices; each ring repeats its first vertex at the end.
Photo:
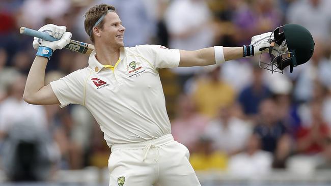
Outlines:
POLYGON ((123 38, 125 27, 115 12, 109 12, 103 18, 104 24, 102 29, 99 29, 100 41, 114 47, 124 46, 123 38))

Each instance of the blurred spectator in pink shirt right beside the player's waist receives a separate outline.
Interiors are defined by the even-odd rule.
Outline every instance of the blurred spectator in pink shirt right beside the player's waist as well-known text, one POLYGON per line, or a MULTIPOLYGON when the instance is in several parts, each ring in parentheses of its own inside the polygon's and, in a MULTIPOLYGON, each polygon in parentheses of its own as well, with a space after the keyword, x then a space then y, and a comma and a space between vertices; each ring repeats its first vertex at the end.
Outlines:
POLYGON ((208 118, 197 112, 196 106, 189 96, 180 95, 177 100, 176 113, 178 115, 171 122, 171 132, 176 141, 185 145, 190 152, 194 152, 208 118))

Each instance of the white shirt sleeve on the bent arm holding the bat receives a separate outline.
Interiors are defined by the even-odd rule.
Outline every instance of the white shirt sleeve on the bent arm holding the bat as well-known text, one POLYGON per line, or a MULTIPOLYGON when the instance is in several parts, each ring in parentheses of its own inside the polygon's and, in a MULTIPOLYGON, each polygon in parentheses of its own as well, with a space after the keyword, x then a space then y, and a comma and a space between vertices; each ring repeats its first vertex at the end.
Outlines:
POLYGON ((74 71, 59 80, 49 83, 60 102, 59 106, 61 108, 69 104, 83 105, 86 79, 84 71, 86 70, 74 71))

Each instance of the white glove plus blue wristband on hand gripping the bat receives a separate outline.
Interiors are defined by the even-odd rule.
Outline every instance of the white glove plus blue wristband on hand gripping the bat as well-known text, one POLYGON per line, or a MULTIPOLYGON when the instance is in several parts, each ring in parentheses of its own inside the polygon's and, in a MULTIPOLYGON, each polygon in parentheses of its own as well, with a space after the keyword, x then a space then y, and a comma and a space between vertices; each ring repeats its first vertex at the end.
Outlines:
POLYGON ((71 40, 71 33, 66 32, 66 29, 66 26, 57 26, 54 24, 47 24, 39 28, 39 32, 47 32, 50 36, 59 40, 45 41, 35 37, 32 45, 38 50, 36 55, 50 59, 53 51, 65 47, 71 40))

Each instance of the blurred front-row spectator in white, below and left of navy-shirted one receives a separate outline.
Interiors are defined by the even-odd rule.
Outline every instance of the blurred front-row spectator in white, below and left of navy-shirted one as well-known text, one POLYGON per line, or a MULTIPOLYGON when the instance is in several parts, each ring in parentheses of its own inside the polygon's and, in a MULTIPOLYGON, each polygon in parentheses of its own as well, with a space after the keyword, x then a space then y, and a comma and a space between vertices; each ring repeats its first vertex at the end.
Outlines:
POLYGON ((235 176, 251 178, 271 172, 272 154, 261 149, 259 136, 252 135, 244 152, 229 160, 229 172, 235 176))

